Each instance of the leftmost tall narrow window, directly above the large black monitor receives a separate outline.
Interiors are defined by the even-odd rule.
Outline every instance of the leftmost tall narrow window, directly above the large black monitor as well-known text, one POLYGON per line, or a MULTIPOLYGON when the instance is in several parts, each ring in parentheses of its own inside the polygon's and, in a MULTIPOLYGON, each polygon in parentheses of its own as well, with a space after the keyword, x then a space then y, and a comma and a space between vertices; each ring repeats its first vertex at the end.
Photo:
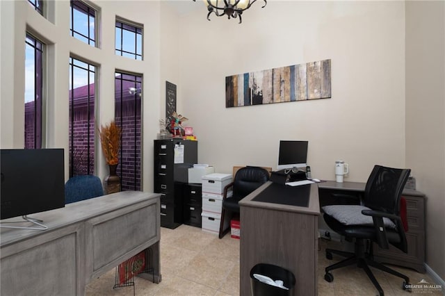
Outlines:
POLYGON ((43 43, 26 34, 25 148, 42 148, 43 43))

